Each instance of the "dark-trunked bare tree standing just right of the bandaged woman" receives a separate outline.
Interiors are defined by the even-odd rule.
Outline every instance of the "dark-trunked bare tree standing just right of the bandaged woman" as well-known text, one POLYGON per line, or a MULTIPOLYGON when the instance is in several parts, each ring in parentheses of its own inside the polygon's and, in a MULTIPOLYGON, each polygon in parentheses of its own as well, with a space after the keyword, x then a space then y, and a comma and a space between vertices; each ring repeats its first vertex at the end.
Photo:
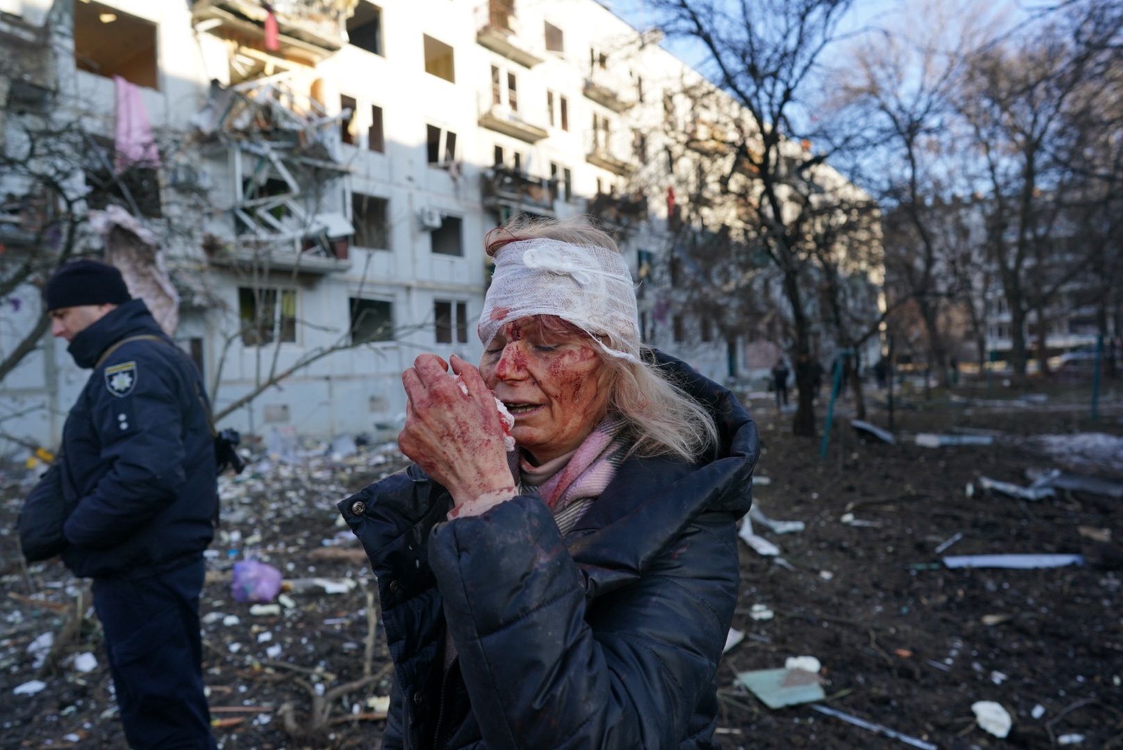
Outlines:
MULTIPOLYGON (((829 200, 823 185, 836 175, 825 166, 831 149, 812 152, 804 140, 816 135, 828 143, 824 131, 809 125, 806 97, 812 93, 818 61, 836 40, 850 2, 766 0, 734 6, 715 0, 651 0, 649 4, 661 13, 668 35, 702 44, 707 53, 704 72, 740 108, 724 113, 714 122, 716 128, 695 138, 712 144, 710 158, 724 167, 707 200, 714 213, 738 218, 740 245, 751 248, 745 256, 750 260, 747 267, 731 273, 751 276, 760 258, 778 273, 798 388, 793 432, 814 435, 814 238, 829 200)), ((733 264, 738 260, 730 258, 733 264)))

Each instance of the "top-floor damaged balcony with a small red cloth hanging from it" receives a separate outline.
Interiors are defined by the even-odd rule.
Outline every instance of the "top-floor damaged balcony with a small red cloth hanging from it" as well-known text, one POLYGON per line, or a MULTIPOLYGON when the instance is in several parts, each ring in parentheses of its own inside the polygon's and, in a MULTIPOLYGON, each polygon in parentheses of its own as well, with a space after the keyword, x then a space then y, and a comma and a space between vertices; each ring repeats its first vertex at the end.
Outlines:
MULTIPOLYGON (((347 17, 354 11, 348 0, 273 0, 280 31, 280 49, 317 62, 347 44, 347 17)), ((193 0, 192 24, 206 24, 220 36, 264 46, 268 12, 257 0, 193 0)))

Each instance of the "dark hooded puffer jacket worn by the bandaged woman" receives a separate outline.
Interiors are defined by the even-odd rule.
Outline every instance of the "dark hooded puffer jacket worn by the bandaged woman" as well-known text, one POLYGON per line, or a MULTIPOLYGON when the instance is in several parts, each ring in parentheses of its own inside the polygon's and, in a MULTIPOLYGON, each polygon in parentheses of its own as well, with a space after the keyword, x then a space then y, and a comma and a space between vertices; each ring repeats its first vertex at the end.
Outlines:
POLYGON ((448 492, 417 466, 339 503, 394 661, 383 748, 714 747, 759 440, 732 394, 655 356, 713 412, 721 446, 694 465, 624 461, 564 539, 535 496, 446 522, 448 492))

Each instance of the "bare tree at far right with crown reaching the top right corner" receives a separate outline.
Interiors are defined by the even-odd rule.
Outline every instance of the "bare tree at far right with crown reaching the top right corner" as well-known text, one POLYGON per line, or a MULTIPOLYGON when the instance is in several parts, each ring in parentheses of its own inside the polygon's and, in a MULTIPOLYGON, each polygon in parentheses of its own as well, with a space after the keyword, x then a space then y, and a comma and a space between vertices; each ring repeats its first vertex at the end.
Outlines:
POLYGON ((1011 314, 1011 360, 1024 375, 1026 326, 1038 327, 1044 367, 1048 310, 1092 259, 1071 243, 1065 194, 1081 190, 1058 158, 1088 81, 1117 66, 1123 16, 1098 2, 1063 3, 1016 39, 976 52, 958 109, 987 182, 987 246, 1011 314))

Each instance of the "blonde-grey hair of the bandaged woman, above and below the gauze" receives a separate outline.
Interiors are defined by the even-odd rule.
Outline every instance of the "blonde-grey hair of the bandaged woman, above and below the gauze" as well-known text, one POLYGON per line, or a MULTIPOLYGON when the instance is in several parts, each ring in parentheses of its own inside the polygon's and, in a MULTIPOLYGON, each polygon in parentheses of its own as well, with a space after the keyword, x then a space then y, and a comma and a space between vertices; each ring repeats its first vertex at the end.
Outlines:
MULTIPOLYGON (((577 247, 603 247, 620 253, 611 235, 594 226, 588 217, 569 219, 530 219, 517 217, 487 234, 484 243, 489 255, 503 245, 524 239, 556 239, 577 247)), ((621 341, 610 340, 610 348, 621 341)), ((634 443, 629 455, 658 456, 670 454, 696 460, 709 447, 716 445, 718 430, 713 418, 701 404, 672 382, 658 367, 610 357, 600 347, 593 351, 601 358, 611 377, 609 409, 623 418, 634 443)))

